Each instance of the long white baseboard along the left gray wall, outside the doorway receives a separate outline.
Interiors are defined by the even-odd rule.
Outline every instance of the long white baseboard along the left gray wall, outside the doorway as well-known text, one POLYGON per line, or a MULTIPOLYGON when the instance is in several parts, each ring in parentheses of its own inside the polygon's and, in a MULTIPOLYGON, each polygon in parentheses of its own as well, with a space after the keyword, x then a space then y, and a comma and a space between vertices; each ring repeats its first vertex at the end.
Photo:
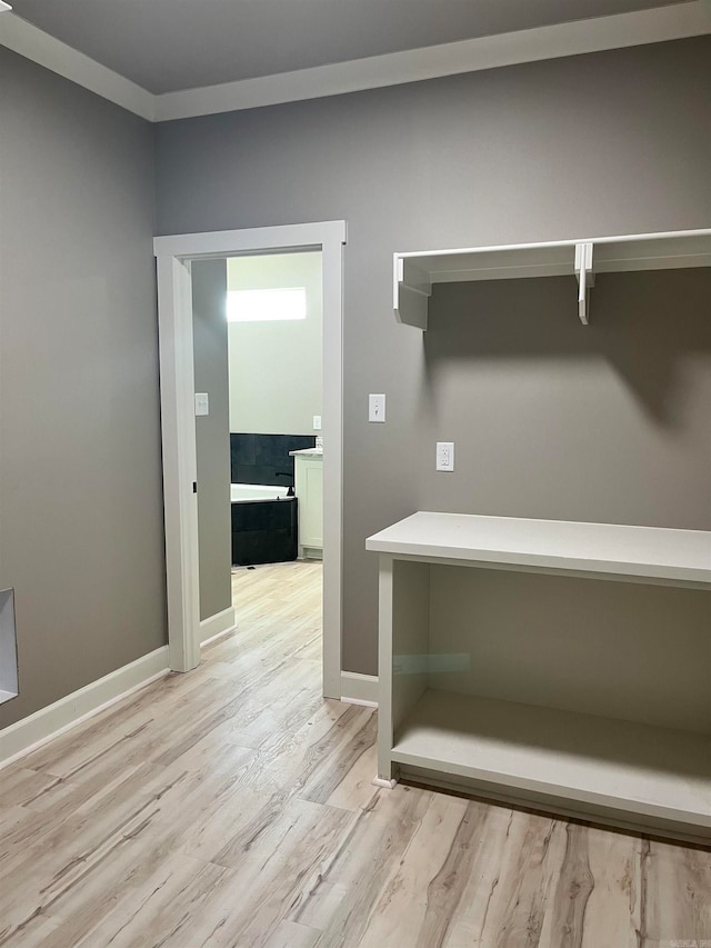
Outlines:
POLYGON ((161 646, 0 730, 0 768, 169 671, 168 646, 161 646))

